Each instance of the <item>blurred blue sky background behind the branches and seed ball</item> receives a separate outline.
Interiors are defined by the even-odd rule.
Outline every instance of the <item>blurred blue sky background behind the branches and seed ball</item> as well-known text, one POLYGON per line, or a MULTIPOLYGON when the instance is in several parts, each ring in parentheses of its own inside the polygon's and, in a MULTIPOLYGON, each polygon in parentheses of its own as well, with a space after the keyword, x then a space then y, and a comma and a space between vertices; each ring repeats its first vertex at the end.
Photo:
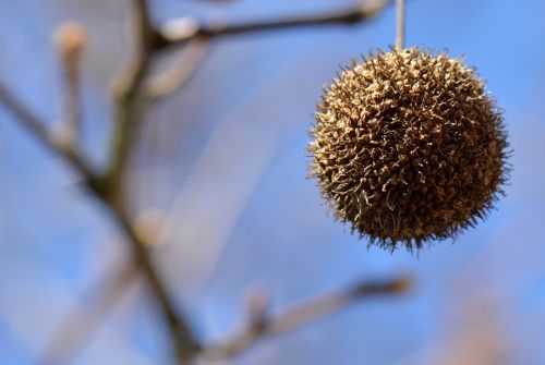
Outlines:
MULTIPOLYGON (((354 1, 149 2, 159 24, 187 15, 276 19, 354 1)), ((51 34, 68 19, 88 33, 83 148, 101 166, 111 80, 132 51, 129 1, 1 1, 0 80, 55 127, 62 90, 51 34)), ((475 65, 505 109, 513 149, 497 210, 456 242, 419 255, 367 248, 328 216, 306 179, 320 87, 351 57, 386 48, 393 37, 395 9, 387 7, 354 26, 214 39, 187 84, 152 107, 130 193, 143 221, 170 222, 156 259, 199 338, 232 332, 252 289, 282 308, 361 278, 415 280, 404 296, 354 303, 226 364, 545 363, 545 2, 409 1, 407 45, 447 49, 475 65)), ((4 108, 0 171, 0 364, 33 364, 128 250, 74 173, 4 108)), ((144 287, 124 289, 70 363, 168 363, 168 332, 144 287)))

